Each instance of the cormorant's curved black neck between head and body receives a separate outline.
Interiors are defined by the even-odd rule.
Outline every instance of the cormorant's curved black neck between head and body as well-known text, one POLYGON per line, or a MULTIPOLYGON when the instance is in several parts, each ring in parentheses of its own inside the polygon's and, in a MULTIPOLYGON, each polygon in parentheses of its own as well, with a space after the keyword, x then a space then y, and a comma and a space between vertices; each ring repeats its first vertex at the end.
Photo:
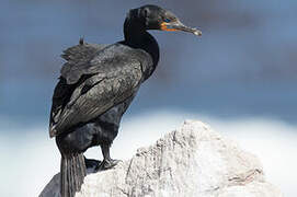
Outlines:
POLYGON ((153 61, 153 70, 159 61, 159 46, 157 40, 150 35, 140 23, 127 20, 124 23, 124 43, 133 48, 147 51, 153 61))

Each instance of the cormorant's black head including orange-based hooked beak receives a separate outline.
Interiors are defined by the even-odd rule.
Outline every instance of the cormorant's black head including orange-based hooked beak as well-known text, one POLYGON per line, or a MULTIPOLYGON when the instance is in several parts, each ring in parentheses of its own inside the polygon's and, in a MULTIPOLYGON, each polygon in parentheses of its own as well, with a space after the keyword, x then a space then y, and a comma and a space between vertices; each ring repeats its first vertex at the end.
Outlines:
POLYGON ((183 31, 202 35, 199 30, 185 26, 172 12, 157 5, 148 4, 133 9, 128 13, 128 19, 137 21, 145 30, 183 31))

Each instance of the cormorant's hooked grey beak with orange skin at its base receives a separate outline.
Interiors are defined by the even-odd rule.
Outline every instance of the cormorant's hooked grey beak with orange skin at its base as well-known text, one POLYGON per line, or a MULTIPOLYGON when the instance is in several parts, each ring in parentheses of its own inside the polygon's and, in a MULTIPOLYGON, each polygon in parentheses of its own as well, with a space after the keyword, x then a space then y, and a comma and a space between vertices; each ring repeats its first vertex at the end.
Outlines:
POLYGON ((195 34, 197 36, 202 35, 202 32, 199 30, 185 26, 180 21, 174 21, 174 22, 170 22, 170 23, 163 22, 163 23, 161 23, 161 30, 162 31, 183 31, 183 32, 190 32, 190 33, 195 34))

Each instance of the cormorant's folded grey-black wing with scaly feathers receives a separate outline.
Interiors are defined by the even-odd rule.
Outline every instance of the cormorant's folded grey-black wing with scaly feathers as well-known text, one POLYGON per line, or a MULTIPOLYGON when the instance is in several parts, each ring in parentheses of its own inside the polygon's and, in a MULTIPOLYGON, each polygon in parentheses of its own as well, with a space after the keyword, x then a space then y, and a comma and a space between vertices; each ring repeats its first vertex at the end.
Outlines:
POLYGON ((62 82, 53 96, 50 137, 91 121, 134 95, 144 80, 144 65, 152 63, 150 56, 138 59, 134 50, 117 44, 92 56, 83 66, 61 70, 62 82), (76 83, 73 76, 79 77, 76 83))

